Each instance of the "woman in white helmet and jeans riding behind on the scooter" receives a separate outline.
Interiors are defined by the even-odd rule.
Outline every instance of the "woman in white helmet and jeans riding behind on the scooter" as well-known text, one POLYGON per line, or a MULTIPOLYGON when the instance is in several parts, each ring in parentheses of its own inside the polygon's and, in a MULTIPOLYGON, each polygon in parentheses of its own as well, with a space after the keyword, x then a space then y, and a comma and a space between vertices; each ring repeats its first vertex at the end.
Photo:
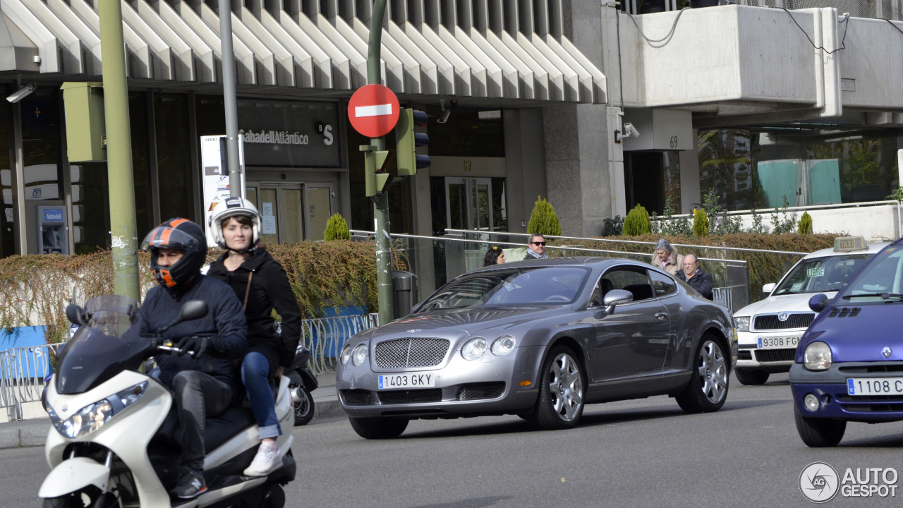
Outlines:
POLYGON ((285 270, 260 249, 260 213, 253 203, 232 196, 214 204, 209 231, 226 253, 210 265, 210 278, 227 283, 242 300, 247 317, 248 352, 241 379, 257 422, 260 447, 245 475, 269 475, 282 464, 275 438, 282 429, 276 419, 270 380, 291 367, 301 334, 301 309, 285 270), (277 331, 273 309, 282 317, 277 331))

